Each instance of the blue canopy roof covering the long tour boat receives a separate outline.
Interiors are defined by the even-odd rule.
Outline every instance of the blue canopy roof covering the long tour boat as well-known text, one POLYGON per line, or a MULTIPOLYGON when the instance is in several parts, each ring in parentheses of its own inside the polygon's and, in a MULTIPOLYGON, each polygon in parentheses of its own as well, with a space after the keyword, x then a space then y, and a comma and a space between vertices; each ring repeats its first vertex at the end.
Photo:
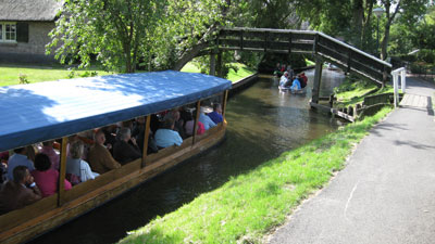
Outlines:
POLYGON ((0 87, 0 152, 189 104, 231 86, 166 70, 0 87))

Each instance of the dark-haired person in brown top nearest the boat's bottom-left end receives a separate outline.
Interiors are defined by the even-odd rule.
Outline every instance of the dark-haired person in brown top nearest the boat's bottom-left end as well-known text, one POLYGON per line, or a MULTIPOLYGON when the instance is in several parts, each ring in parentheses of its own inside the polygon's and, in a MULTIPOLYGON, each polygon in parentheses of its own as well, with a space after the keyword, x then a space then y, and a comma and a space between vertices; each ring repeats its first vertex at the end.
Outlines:
POLYGON ((7 181, 0 190, 0 214, 25 207, 42 197, 26 166, 14 167, 12 178, 14 180, 7 181))

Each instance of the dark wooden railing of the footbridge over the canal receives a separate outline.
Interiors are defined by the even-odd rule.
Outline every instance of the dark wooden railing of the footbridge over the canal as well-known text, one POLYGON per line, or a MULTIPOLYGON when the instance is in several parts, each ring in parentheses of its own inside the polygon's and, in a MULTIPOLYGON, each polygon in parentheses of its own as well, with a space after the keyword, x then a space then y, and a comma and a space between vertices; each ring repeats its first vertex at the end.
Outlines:
POLYGON ((221 50, 314 54, 345 72, 380 84, 386 81, 391 72, 389 63, 319 31, 224 28, 219 35, 217 44, 221 50))

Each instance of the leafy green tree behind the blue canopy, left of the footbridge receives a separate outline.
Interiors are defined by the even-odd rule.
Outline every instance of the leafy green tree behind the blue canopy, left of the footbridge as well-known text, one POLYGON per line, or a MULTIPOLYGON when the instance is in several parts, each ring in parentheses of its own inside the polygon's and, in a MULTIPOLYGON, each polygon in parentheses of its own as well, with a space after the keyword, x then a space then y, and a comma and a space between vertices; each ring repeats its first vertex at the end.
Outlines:
POLYGON ((66 0, 48 51, 62 63, 133 73, 138 65, 172 67, 222 22, 220 0, 66 0))

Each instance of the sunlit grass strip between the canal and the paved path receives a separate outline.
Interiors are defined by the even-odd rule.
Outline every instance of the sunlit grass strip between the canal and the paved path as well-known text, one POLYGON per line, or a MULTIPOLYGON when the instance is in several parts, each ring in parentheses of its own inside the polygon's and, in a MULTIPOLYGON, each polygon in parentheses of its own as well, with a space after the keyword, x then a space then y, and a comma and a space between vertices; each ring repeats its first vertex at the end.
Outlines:
POLYGON ((261 243, 302 200, 345 166, 355 144, 389 111, 383 108, 375 116, 234 177, 223 187, 129 232, 120 243, 261 243))

